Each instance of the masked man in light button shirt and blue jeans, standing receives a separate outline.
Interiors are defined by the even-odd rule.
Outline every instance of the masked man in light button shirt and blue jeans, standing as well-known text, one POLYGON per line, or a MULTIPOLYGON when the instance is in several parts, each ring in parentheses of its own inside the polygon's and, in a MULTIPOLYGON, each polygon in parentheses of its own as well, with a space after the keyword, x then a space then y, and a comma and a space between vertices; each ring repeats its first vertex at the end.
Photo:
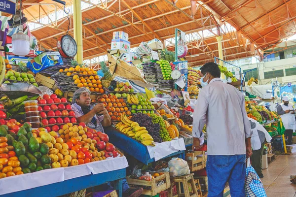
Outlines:
POLYGON ((217 64, 200 68, 201 86, 193 113, 193 149, 207 125, 208 197, 223 197, 228 181, 232 197, 245 197, 246 157, 252 155, 251 127, 245 109, 245 97, 220 79, 217 64))

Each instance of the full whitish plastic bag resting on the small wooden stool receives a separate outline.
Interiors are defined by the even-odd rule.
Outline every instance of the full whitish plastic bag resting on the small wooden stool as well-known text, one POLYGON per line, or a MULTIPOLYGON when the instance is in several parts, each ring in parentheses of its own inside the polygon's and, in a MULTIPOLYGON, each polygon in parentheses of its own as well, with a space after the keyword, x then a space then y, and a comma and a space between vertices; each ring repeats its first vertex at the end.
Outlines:
POLYGON ((190 174, 187 162, 180 158, 172 158, 171 161, 169 161, 169 168, 171 177, 190 174))

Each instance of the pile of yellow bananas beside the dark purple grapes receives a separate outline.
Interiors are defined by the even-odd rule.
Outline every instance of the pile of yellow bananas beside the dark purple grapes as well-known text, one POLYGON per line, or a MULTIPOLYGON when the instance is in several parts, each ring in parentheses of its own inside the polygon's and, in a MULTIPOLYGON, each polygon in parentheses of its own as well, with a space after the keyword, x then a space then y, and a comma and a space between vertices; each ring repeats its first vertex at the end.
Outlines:
POLYGON ((155 146, 152 136, 146 130, 146 127, 140 127, 137 122, 133 122, 123 114, 120 116, 121 123, 117 123, 115 128, 128 136, 140 141, 146 146, 155 146))

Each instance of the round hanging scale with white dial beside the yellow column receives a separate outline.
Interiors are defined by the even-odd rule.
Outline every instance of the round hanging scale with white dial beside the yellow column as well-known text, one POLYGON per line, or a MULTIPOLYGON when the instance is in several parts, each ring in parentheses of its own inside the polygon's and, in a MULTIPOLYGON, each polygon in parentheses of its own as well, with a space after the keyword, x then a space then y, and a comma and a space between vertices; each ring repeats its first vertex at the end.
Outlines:
POLYGON ((64 58, 74 58, 77 53, 77 44, 71 35, 63 35, 59 39, 57 47, 64 58))

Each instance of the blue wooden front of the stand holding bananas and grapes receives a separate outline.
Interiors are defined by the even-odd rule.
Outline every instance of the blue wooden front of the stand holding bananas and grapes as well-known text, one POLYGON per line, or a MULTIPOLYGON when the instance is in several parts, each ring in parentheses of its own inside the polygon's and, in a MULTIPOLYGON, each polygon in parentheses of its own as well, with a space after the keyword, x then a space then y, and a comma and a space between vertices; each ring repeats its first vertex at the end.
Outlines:
MULTIPOLYGON (((139 160, 143 164, 148 165, 149 163, 155 162, 154 158, 150 158, 148 147, 141 142, 129 137, 128 135, 125 135, 124 133, 121 133, 120 131, 117 131, 113 127, 108 127, 105 130, 105 133, 108 134, 110 137, 110 142, 118 147, 120 150, 124 151, 125 154, 128 153, 129 155, 133 156, 135 159, 139 160)), ((164 158, 168 157, 179 157, 179 158, 185 158, 184 151, 177 151, 175 153, 172 153, 164 158)))

